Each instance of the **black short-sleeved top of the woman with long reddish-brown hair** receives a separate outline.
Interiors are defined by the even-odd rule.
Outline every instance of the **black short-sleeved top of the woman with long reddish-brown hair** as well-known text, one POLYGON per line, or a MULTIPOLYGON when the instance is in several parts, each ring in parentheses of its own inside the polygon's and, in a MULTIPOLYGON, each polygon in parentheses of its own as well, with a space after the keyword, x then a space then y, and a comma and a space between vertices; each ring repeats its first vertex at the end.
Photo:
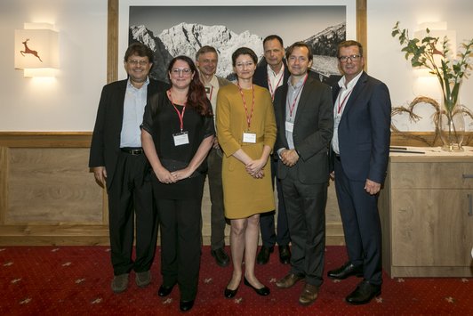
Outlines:
MULTIPOLYGON (((175 106, 182 113, 184 106, 178 104, 175 106)), ((156 93, 148 101, 141 128, 153 137, 161 164, 171 172, 188 166, 201 142, 208 136, 215 134, 213 117, 203 117, 190 107, 187 107, 184 112, 183 123, 182 131, 188 133, 188 144, 175 146, 173 135, 180 134, 180 119, 167 94, 165 92, 156 93)), ((200 182, 203 183, 206 169, 207 164, 204 161, 189 179, 172 184, 158 182, 159 197, 157 198, 198 199, 199 196, 202 196, 200 182)))

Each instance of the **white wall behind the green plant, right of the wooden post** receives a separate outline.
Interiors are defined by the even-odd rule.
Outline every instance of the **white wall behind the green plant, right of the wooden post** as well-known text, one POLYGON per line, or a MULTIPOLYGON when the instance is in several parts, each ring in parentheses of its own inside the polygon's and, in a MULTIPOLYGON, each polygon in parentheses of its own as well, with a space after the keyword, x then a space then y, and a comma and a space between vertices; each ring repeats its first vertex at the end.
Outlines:
MULTIPOLYGON (((424 95, 440 102, 441 89, 435 77, 418 77, 411 63, 405 60, 397 38, 391 30, 397 20, 402 28, 413 31, 426 22, 447 22, 447 28, 456 31, 457 45, 473 38, 473 1, 471 0, 367 0, 368 4, 368 72, 389 86, 394 106, 406 106, 416 96, 424 95)), ((473 61, 473 59, 472 59, 473 61)), ((473 78, 463 81, 459 100, 473 111, 473 78)), ((429 105, 421 105, 424 117, 417 124, 410 124, 407 117, 393 117, 402 130, 433 131, 429 105)), ((467 120, 469 131, 473 122, 467 120)))

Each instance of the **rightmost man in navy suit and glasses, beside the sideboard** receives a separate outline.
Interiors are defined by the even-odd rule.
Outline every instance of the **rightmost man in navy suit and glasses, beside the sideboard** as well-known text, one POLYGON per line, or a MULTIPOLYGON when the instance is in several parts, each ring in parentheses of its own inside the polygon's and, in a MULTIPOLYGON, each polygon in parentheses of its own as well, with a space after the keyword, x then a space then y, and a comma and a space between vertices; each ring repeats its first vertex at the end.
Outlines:
POLYGON ((349 261, 327 274, 335 280, 363 276, 345 300, 366 304, 381 294, 377 203, 388 167, 391 101, 388 87, 363 71, 362 45, 342 42, 338 59, 344 77, 333 86, 333 177, 349 261))

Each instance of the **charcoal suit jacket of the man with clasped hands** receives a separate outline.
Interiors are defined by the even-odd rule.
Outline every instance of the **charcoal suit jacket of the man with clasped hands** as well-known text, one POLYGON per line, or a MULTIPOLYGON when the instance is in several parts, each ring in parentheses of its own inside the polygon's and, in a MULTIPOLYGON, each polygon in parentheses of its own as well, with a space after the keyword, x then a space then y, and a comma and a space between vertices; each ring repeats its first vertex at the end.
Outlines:
MULTIPOLYGON (((285 105, 288 86, 280 86, 274 99, 277 122, 275 151, 289 149, 285 137, 285 105)), ((308 77, 294 117, 293 142, 299 153, 298 178, 302 183, 313 184, 328 181, 328 146, 333 135, 333 101, 330 87, 308 77)), ((277 164, 277 176, 285 179, 288 166, 281 160, 277 164)))

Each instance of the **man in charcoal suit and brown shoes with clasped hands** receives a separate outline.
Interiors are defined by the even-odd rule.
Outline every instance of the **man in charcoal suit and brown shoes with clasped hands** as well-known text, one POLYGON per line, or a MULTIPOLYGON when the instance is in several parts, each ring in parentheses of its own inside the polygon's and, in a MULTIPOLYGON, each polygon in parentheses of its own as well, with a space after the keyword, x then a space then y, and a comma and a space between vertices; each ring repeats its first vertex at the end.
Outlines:
POLYGON ((291 288, 305 280, 299 303, 309 305, 316 301, 323 282, 333 101, 330 87, 309 77, 313 56, 308 45, 294 43, 286 59, 291 77, 275 95, 275 150, 293 255, 291 270, 276 285, 291 288))

